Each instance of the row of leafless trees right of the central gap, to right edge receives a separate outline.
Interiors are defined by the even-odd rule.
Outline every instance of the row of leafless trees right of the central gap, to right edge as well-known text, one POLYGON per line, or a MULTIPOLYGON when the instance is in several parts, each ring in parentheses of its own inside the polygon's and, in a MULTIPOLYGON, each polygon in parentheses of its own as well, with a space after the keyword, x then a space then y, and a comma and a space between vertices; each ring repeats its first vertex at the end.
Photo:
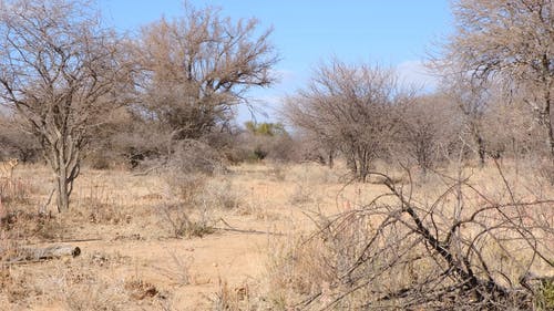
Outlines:
POLYGON ((524 157, 554 182, 552 9, 548 0, 454 1, 455 32, 428 61, 440 75, 434 93, 402 85, 393 69, 332 59, 284 115, 319 153, 345 157, 358 180, 377 159, 424 173, 461 155, 481 165, 524 157))

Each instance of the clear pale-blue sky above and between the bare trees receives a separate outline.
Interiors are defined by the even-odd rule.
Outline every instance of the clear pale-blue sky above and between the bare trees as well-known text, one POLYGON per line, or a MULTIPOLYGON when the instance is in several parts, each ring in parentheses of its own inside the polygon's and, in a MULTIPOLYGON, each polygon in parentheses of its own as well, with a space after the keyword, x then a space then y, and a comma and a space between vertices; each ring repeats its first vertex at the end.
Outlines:
MULTIPOLYGON (((283 59, 276 66, 280 82, 252 92, 270 116, 279 99, 302 87, 321 61, 337 56, 346 62, 378 62, 396 66, 407 82, 432 89, 421 61, 432 42, 451 29, 448 0, 192 0, 196 8, 222 9, 235 20, 256 18, 260 29, 274 28, 271 42, 283 59)), ((100 0, 107 23, 136 31, 162 15, 183 12, 181 0, 100 0)), ((245 110, 240 121, 248 120, 245 110)), ((263 114, 258 120, 265 120, 263 114)), ((270 117, 270 120, 274 120, 270 117)))

